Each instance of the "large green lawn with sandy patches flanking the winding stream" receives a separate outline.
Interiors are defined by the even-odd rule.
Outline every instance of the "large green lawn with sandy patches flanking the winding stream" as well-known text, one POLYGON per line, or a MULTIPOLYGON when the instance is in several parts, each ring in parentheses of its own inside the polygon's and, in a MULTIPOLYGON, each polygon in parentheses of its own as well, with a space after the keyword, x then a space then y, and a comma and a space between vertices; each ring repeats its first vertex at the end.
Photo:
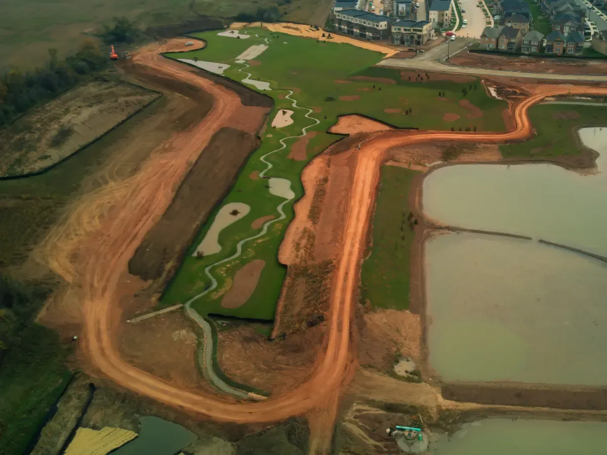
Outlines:
MULTIPOLYGON (((270 41, 268 49, 256 58, 259 64, 245 69, 251 73, 252 79, 257 78, 270 82, 272 90, 263 92, 272 96, 275 101, 274 110, 270 113, 270 120, 274 118, 277 110, 291 109, 295 111, 292 116, 294 123, 280 129, 268 127, 259 149, 251 155, 231 192, 221 204, 223 206, 223 204, 231 202, 245 203, 251 207, 251 211, 220 233, 221 252, 203 258, 191 257, 191 253, 195 251, 196 246, 211 227, 215 214, 220 208, 217 207, 215 214, 209 217, 208 222, 202 227, 180 270, 161 298, 163 306, 173 305, 177 302, 184 303, 207 289, 211 280, 206 276, 205 268, 219 260, 231 257, 237 251, 237 243, 240 240, 259 233, 261 228, 253 229, 251 227, 254 220, 266 215, 278 217, 276 207, 283 199, 270 194, 266 180, 253 180, 249 175, 256 170, 265 169, 265 165, 260 162, 259 158, 280 147, 280 139, 300 134, 302 127, 314 123, 304 117, 306 111, 293 109, 291 101, 283 99, 287 88, 294 90, 293 98, 297 99, 298 106, 314 107, 317 113, 313 113, 312 116, 320 121, 318 125, 310 129, 316 131, 317 135, 308 142, 308 160, 339 138, 339 136, 326 133, 326 130, 336 122, 338 115, 346 113, 362 113, 400 127, 446 130, 451 126, 475 125, 478 130, 504 129, 501 110, 506 107, 506 104, 503 101, 489 98, 478 81, 455 83, 430 80, 422 83, 416 82, 415 76, 412 78, 413 81, 409 81, 408 76, 406 78, 401 76, 399 70, 371 67, 382 58, 382 55, 353 45, 333 42, 318 43, 314 39, 282 34, 279 35, 279 38, 272 38, 270 32, 265 29, 248 29, 248 33, 251 38, 247 39, 217 36, 217 32, 195 33, 193 36, 208 42, 205 49, 189 53, 173 53, 168 56, 172 58, 193 58, 195 56, 199 61, 230 64, 231 66, 225 70, 224 75, 240 81, 246 77, 245 73, 239 72, 239 69, 243 69, 244 66, 236 64, 234 59, 249 46, 265 43, 263 38, 268 38, 270 41), (259 37, 256 37, 256 34, 259 37), (388 80, 380 82, 368 79, 358 80, 351 79, 352 76, 388 80), (478 84, 476 90, 473 89, 475 84, 478 84), (373 88, 374 85, 375 88, 373 88), (474 106, 483 109, 483 118, 475 120, 466 118, 468 111, 458 104, 461 99, 464 99, 462 93, 464 88, 470 90, 466 99, 474 106), (445 92, 448 101, 437 101, 436 97, 439 92, 445 92), (341 96, 353 97, 353 99, 340 99, 341 96), (412 109, 412 113, 405 115, 404 111, 408 109, 412 109), (389 110, 389 112, 385 112, 385 110, 389 110), (457 113, 461 118, 447 123, 443 121, 443 115, 447 112, 457 113)), ((285 140, 285 143, 287 146, 291 146, 296 140, 288 139, 285 140)), ((287 178, 291 181, 291 189, 296 195, 296 198, 284 207, 287 217, 271 224, 268 232, 262 237, 243 244, 240 257, 211 269, 211 274, 218 283, 214 290, 194 303, 194 308, 201 314, 214 313, 263 320, 274 318, 276 301, 286 273, 286 269, 277 261, 277 252, 285 229, 293 219, 293 202, 303 194, 299 175, 307 164, 307 161, 287 159, 288 152, 287 147, 267 158, 267 161, 273 165, 273 169, 268 172, 267 176, 287 178), (221 301, 225 292, 232 285, 234 273, 253 259, 265 261, 253 295, 239 308, 223 308, 221 301)))

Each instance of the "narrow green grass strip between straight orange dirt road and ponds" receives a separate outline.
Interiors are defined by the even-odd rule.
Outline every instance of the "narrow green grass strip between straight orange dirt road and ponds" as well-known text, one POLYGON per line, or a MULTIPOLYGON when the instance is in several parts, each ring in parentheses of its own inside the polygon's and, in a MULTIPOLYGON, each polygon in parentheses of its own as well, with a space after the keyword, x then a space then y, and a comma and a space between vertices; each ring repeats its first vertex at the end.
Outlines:
POLYGON ((373 217, 371 254, 362 263, 361 297, 380 308, 409 308, 409 187, 415 170, 384 166, 373 217))

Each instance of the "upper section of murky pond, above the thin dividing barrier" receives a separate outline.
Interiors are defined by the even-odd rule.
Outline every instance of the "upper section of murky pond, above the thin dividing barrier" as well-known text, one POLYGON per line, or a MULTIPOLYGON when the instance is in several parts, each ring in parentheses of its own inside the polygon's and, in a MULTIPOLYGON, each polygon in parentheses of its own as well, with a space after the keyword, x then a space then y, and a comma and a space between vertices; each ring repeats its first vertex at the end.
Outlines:
POLYGON ((528 235, 607 256, 607 128, 580 130, 598 172, 552 164, 448 166, 424 181, 424 210, 442 223, 528 235))

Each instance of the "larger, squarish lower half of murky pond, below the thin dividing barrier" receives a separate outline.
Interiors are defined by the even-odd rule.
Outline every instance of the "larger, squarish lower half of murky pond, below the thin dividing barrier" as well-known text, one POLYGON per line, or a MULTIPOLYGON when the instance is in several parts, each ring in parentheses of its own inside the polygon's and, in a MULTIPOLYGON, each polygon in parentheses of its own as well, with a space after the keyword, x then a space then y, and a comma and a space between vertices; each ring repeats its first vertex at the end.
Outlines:
POLYGON ((536 241, 426 244, 430 365, 445 380, 607 384, 607 264, 536 241))

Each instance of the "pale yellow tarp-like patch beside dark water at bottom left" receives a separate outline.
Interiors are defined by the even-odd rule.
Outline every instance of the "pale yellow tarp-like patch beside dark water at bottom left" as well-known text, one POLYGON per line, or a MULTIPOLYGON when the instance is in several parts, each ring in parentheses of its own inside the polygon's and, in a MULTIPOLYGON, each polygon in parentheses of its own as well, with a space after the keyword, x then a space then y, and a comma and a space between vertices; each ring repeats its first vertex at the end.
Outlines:
POLYGON ((134 431, 110 426, 106 426, 102 430, 78 428, 65 455, 106 455, 135 437, 137 437, 137 433, 134 431))

